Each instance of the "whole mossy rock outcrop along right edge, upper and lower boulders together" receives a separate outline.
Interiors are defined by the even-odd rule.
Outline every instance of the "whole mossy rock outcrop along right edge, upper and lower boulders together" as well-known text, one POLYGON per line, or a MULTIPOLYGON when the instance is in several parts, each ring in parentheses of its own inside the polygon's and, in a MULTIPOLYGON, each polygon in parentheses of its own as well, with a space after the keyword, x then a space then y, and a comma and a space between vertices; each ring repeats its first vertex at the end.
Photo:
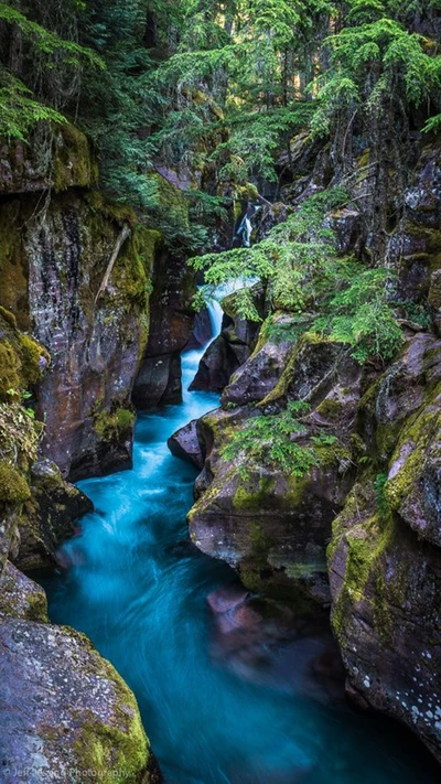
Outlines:
POLYGON ((417 335, 368 390, 358 434, 376 468, 333 524, 332 622, 348 690, 441 760, 441 344, 417 335))

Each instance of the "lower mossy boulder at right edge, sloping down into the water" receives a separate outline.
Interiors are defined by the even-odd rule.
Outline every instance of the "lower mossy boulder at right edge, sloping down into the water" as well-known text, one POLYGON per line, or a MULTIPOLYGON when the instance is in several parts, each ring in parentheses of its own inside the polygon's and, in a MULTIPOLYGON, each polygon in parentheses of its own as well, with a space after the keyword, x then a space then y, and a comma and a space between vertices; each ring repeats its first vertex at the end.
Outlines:
POLYGON ((378 513, 374 476, 333 524, 332 623, 348 692, 405 722, 441 761, 441 550, 378 513))

